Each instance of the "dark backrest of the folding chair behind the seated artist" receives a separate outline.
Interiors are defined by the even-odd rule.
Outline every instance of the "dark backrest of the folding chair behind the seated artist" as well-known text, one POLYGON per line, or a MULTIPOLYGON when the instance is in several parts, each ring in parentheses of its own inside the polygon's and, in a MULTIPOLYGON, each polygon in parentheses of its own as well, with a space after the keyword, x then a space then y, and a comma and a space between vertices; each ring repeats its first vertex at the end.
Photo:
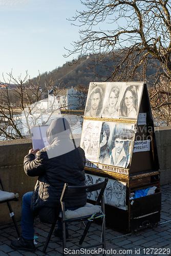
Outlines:
POLYGON ((100 193, 95 203, 95 205, 97 205, 100 203, 101 197, 104 193, 104 189, 107 183, 108 183, 108 178, 105 178, 104 181, 102 182, 92 184, 92 185, 84 185, 84 186, 69 186, 67 183, 65 183, 65 185, 63 186, 61 197, 60 197, 60 203, 65 201, 66 195, 70 195, 70 196, 74 194, 80 195, 80 194, 100 190, 100 193))

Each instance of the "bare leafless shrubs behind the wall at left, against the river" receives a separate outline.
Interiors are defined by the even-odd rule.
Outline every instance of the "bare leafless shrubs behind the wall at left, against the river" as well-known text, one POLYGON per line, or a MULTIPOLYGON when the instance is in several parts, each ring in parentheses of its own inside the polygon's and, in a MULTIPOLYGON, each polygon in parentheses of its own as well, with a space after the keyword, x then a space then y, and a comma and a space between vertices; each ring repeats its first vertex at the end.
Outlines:
POLYGON ((0 89, 0 139, 16 139, 30 137, 30 126, 47 124, 53 114, 59 112, 60 105, 56 95, 61 90, 53 86, 53 80, 45 81, 45 88, 39 87, 40 74, 33 83, 25 77, 14 78, 12 72, 8 74, 8 81, 1 82, 0 89), (53 97, 48 102, 48 89, 53 90, 53 97), (46 103, 45 111, 43 103, 46 103), (44 112, 44 113, 43 113, 44 112), (46 114, 46 118, 44 118, 46 114))

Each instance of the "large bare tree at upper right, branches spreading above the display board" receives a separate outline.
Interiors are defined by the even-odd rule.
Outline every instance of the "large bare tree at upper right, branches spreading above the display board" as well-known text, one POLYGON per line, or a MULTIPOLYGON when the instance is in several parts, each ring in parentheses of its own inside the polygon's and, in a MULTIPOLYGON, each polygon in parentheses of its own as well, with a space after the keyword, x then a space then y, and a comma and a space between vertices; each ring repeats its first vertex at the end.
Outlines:
MULTIPOLYGON (((70 19, 82 27, 80 39, 73 42, 73 50, 68 50, 66 56, 91 53, 94 62, 89 67, 101 63, 101 72, 96 74, 100 80, 146 81, 163 102, 163 94, 159 93, 163 88, 161 81, 167 83, 169 90, 171 80, 170 2, 82 0, 81 3, 86 9, 77 11, 70 19)), ((169 102, 169 94, 164 95, 169 102)), ((155 113, 159 115, 160 111, 161 105, 155 113)))

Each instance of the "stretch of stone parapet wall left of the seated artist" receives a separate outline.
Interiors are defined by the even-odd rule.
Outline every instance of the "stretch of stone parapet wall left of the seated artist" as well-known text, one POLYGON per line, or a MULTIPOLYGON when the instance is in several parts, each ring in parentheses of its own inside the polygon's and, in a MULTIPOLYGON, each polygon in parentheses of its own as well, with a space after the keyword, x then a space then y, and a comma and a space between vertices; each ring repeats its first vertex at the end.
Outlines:
MULTIPOLYGON (((10 202, 17 221, 21 220, 22 198, 33 191, 37 177, 28 177, 23 169, 23 159, 32 147, 31 139, 0 141, 0 174, 5 190, 18 193, 18 202, 10 202)), ((0 225, 12 222, 7 203, 0 204, 0 225)))

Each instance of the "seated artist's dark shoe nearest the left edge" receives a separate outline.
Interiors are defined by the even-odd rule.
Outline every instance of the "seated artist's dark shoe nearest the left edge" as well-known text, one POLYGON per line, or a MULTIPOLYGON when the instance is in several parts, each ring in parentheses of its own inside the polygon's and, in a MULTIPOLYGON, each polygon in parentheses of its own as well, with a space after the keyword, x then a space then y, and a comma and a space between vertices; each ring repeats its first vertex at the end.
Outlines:
POLYGON ((36 249, 34 240, 26 240, 23 237, 20 237, 16 241, 12 241, 10 246, 15 250, 35 251, 36 249))

